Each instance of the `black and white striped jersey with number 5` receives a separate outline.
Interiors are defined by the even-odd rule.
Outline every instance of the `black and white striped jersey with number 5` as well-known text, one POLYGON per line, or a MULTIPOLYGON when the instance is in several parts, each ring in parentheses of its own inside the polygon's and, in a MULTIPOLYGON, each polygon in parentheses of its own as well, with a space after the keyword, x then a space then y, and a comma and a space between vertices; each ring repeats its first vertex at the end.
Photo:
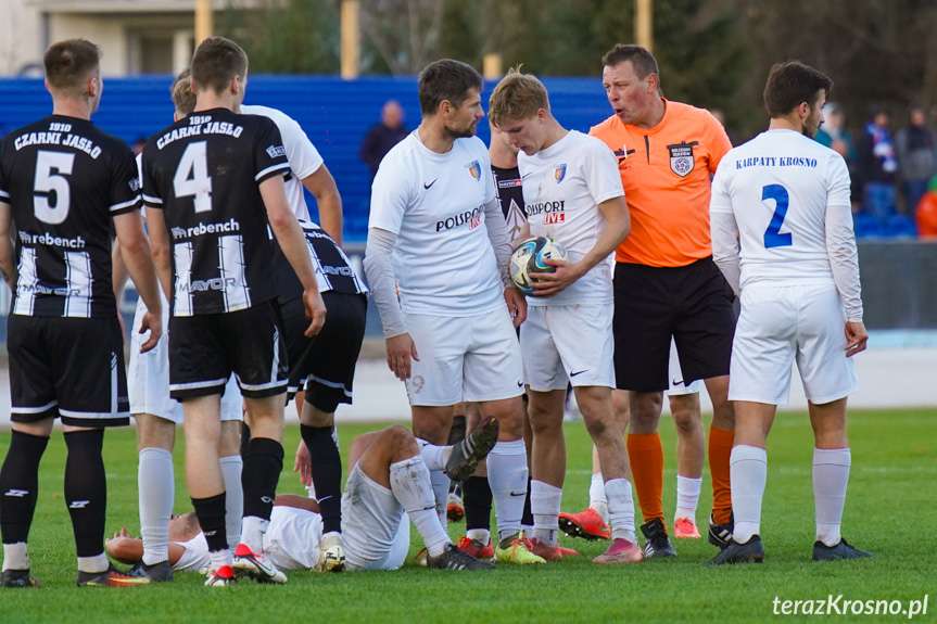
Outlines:
POLYGON ((91 122, 50 115, 0 142, 0 201, 15 225, 12 314, 117 314, 111 217, 140 207, 134 153, 91 122))

